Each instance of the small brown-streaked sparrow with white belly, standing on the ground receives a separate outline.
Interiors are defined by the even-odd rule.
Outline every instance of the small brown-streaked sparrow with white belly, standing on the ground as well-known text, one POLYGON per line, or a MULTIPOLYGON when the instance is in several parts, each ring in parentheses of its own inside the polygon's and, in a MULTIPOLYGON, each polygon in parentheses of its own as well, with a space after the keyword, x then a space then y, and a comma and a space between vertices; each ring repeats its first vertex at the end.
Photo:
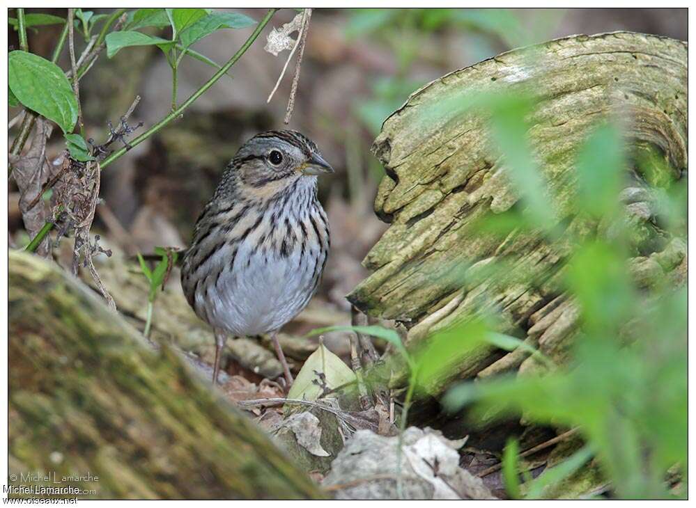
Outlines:
POLYGON ((331 171, 299 132, 264 132, 242 145, 183 260, 183 289, 201 319, 217 331, 259 335, 307 306, 330 243, 316 175, 331 171))

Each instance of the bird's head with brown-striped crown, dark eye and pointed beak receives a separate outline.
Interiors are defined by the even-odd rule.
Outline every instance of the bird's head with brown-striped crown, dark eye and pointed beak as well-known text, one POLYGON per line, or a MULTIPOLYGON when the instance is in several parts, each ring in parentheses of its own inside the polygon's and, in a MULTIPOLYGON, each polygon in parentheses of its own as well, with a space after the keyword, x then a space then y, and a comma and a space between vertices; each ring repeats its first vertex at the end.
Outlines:
POLYGON ((333 173, 314 141, 297 131, 256 134, 233 159, 240 182, 251 193, 282 191, 302 177, 333 173))

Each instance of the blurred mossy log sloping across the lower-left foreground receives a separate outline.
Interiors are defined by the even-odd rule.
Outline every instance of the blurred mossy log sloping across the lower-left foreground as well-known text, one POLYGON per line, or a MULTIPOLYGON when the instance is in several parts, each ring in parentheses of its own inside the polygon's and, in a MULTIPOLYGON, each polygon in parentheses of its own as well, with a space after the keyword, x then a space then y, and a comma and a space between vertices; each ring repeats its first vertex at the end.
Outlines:
POLYGON ((94 498, 321 497, 185 360, 148 347, 79 280, 17 251, 9 268, 10 473, 82 475, 68 483, 94 498))

